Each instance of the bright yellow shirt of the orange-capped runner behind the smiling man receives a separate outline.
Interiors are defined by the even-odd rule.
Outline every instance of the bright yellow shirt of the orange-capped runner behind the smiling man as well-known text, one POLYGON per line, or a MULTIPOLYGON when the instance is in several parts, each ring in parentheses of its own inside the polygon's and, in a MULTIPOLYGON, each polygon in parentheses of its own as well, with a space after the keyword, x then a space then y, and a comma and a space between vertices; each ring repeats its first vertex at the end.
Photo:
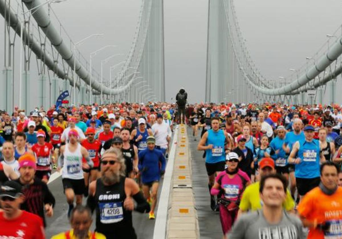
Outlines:
MULTIPOLYGON (((261 209, 261 200, 260 200, 260 182, 254 183, 246 187, 244 193, 242 194, 241 202, 239 208, 242 211, 248 210, 258 210, 261 209)), ((291 197, 291 193, 289 190, 286 192, 286 200, 283 203, 283 207, 285 210, 290 211, 294 208, 294 201, 291 197)))

